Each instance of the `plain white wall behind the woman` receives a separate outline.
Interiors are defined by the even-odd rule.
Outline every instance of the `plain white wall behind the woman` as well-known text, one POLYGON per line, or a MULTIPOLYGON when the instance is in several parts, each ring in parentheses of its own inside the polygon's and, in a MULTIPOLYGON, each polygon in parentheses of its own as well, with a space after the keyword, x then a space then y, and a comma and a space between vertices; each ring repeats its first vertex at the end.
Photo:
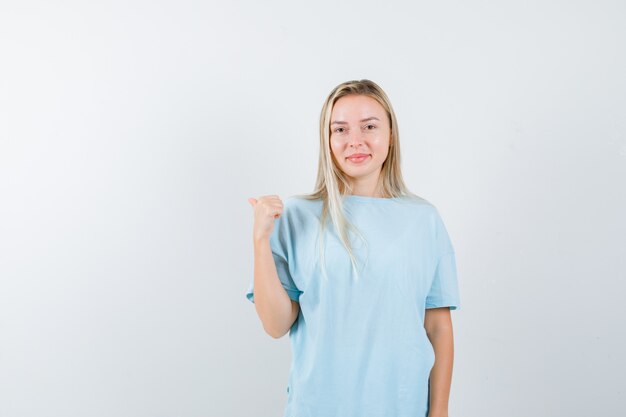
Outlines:
POLYGON ((457 253, 451 417, 623 413, 623 1, 0 3, 0 415, 281 416, 248 197, 368 78, 457 253))

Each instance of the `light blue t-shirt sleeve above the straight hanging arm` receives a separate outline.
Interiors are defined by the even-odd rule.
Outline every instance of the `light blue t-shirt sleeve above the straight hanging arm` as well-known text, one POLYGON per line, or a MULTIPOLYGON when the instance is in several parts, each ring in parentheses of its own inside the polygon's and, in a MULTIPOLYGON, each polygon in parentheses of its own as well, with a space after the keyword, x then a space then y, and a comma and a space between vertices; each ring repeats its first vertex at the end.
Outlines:
POLYGON ((450 310, 459 310, 461 300, 454 247, 439 213, 435 217, 437 259, 433 283, 426 296, 426 308, 450 307, 450 310))

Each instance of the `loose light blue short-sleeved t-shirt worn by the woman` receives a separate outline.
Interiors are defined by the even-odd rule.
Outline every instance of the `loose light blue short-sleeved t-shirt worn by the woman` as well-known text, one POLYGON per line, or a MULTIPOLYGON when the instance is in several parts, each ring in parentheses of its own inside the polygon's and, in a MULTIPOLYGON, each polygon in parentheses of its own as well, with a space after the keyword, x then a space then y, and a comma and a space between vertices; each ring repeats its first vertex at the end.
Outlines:
MULTIPOLYGON (((438 210, 422 198, 345 197, 347 218, 367 240, 350 233, 363 268, 356 279, 332 226, 322 276, 321 209, 321 200, 288 197, 270 237, 280 281, 300 303, 284 417, 426 417, 435 354, 424 312, 460 308, 454 248, 438 210)), ((253 291, 254 278, 252 302, 253 291)))

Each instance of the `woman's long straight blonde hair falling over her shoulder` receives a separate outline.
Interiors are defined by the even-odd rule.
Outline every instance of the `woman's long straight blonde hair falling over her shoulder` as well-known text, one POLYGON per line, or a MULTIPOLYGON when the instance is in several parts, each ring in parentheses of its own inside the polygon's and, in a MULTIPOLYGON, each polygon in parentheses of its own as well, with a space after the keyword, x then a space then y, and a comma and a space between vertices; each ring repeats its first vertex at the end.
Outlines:
POLYGON ((319 241, 321 242, 320 259, 322 261, 322 271, 324 277, 326 277, 326 269, 324 262, 323 236, 325 235, 324 231, 328 217, 330 217, 330 221, 337 231, 337 236, 348 252, 352 264, 352 270, 356 273, 358 279, 358 268, 356 266, 356 259, 352 250, 352 244, 350 242, 348 232, 355 232, 366 245, 367 242, 363 238, 363 235, 348 221, 344 214, 342 198, 346 195, 352 194, 352 188, 346 178, 346 174, 336 164, 330 148, 330 118, 333 107, 337 100, 350 94, 360 94, 373 98, 385 109, 389 119, 389 126, 391 130, 389 154, 387 155, 385 162, 383 162, 377 190, 380 191, 380 194, 386 198, 408 197, 420 199, 421 197, 411 193, 402 179, 402 172, 400 169, 398 122, 396 121, 396 115, 387 94, 385 94, 383 89, 376 83, 367 79, 346 81, 336 86, 326 98, 320 114, 320 152, 315 191, 311 194, 299 194, 295 197, 307 200, 322 200, 322 213, 320 217, 319 229, 319 236, 321 239, 319 239, 319 241))

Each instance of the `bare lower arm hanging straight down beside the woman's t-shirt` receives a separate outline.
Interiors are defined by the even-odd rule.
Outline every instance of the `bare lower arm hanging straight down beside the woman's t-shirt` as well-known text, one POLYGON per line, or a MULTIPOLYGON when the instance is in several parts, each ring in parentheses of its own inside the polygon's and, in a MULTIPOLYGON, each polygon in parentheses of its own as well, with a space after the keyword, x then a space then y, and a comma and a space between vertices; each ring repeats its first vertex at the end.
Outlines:
POLYGON ((428 417, 448 417, 448 399, 454 361, 454 338, 450 308, 426 309, 424 328, 435 351, 435 363, 430 371, 428 417))

